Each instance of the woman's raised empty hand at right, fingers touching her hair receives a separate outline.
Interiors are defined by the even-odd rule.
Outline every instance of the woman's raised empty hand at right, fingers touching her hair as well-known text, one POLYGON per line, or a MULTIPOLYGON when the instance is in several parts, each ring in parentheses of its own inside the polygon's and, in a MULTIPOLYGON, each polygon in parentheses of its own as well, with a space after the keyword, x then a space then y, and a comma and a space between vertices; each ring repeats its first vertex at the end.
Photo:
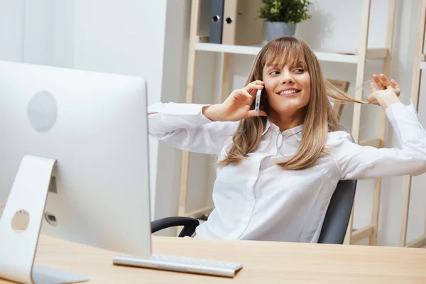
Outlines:
POLYGON ((381 106, 383 110, 386 110, 391 104, 400 102, 398 99, 401 91, 398 83, 395 80, 388 81, 385 75, 381 74, 380 78, 374 74, 371 82, 370 89, 371 94, 368 96, 368 102, 370 104, 376 104, 381 106))

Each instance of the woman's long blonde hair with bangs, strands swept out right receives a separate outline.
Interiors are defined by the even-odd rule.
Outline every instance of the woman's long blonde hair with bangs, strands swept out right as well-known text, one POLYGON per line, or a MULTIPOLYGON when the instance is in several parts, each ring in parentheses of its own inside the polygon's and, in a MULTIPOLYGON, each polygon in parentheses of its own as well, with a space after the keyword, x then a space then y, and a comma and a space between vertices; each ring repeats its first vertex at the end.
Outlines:
MULTIPOLYGON (((278 165, 286 170, 309 168, 320 158, 322 153, 327 153, 324 149, 327 133, 341 130, 337 114, 332 108, 329 98, 361 104, 366 102, 352 99, 340 89, 334 87, 333 84, 324 80, 320 62, 318 62, 315 53, 303 40, 294 36, 275 38, 261 49, 253 62, 246 85, 249 82, 263 80, 263 67, 276 61, 282 66, 286 63, 305 62, 311 78, 310 101, 305 107, 302 141, 295 155, 282 163, 278 163, 278 165), (290 60, 292 62, 288 62, 290 60)), ((268 108, 268 101, 265 100, 265 111, 267 113, 268 108)), ((251 109, 254 109, 254 103, 251 105, 251 109)), ((266 119, 266 116, 255 116, 239 122, 229 153, 224 160, 219 162, 219 167, 239 165, 246 158, 246 154, 256 149, 261 141, 266 119)))

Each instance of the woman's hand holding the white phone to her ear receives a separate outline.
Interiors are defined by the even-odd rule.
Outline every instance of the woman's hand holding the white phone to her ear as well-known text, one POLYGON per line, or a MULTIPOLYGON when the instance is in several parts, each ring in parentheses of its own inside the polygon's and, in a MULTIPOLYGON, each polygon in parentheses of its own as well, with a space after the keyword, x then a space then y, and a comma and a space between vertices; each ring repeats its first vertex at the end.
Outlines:
MULTIPOLYGON (((251 110, 253 99, 256 98, 258 89, 263 89, 263 82, 260 80, 249 83, 244 89, 236 89, 222 104, 213 104, 204 107, 202 114, 212 121, 240 121, 247 117, 256 116, 254 110, 251 110), (251 95, 251 92, 254 95, 251 95)), ((259 111, 258 116, 266 116, 265 111, 259 111)))

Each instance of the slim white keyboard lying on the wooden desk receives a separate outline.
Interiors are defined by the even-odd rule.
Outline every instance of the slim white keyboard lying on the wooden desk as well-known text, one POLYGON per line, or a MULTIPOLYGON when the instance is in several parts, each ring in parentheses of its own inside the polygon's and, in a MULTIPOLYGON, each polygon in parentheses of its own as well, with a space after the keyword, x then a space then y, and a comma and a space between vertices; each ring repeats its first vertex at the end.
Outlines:
POLYGON ((230 278, 233 278, 236 272, 243 268, 239 263, 163 255, 153 255, 151 258, 116 256, 113 259, 113 263, 121 266, 137 266, 165 271, 198 273, 230 278))

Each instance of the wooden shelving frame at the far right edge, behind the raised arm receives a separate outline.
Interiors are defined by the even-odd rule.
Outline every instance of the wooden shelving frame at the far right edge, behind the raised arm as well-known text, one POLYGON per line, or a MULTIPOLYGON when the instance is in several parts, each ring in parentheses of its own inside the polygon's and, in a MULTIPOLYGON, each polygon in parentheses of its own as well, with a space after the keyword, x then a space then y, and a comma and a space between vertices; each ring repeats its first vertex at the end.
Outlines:
MULTIPOLYGON (((422 70, 426 69, 425 54, 425 32, 426 32, 426 0, 420 0, 419 3, 419 16, 417 23, 417 42, 415 45, 414 68, 413 68, 413 82, 411 89, 411 100, 418 111, 419 97, 420 97, 420 78, 422 70)), ((401 204, 401 224, 400 224, 400 238, 399 246, 408 247, 421 247, 426 245, 426 224, 425 233, 420 238, 411 241, 407 244, 407 226, 408 226, 408 209, 410 207, 410 194, 411 194, 411 175, 405 175, 403 181, 403 197, 401 204)))

